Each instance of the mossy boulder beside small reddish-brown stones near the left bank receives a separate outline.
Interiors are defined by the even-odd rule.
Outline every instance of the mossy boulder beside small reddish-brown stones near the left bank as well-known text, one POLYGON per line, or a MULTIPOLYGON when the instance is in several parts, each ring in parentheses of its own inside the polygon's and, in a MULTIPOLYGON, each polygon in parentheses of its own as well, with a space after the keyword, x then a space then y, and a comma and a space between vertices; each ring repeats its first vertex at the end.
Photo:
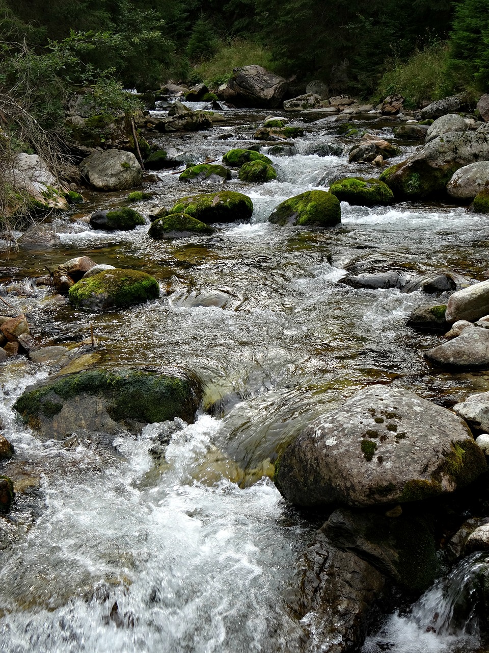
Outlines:
POLYGON ((68 291, 72 306, 89 310, 126 308, 159 296, 160 287, 155 278, 139 270, 118 268, 80 279, 68 291))

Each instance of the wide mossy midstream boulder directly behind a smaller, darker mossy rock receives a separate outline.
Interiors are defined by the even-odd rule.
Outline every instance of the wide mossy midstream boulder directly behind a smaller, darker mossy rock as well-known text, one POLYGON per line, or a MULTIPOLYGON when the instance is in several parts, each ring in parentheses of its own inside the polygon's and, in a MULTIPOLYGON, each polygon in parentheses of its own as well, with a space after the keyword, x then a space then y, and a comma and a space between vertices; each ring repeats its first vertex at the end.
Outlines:
POLYGON ((211 225, 216 222, 248 222, 253 214, 253 202, 243 193, 220 191, 182 197, 170 213, 185 213, 211 225))

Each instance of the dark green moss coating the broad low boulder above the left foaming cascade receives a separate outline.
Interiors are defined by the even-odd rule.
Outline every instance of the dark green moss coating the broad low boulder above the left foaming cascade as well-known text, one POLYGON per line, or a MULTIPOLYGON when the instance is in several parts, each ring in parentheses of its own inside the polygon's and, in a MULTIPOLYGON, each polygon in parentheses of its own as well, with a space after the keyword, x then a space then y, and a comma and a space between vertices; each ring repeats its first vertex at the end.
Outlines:
POLYGON ((175 417, 192 422, 200 387, 195 380, 155 372, 88 370, 24 392, 14 409, 23 421, 35 424, 40 414, 52 417, 45 404, 62 403, 82 393, 104 398, 110 417, 117 422, 131 419, 151 424, 175 417))

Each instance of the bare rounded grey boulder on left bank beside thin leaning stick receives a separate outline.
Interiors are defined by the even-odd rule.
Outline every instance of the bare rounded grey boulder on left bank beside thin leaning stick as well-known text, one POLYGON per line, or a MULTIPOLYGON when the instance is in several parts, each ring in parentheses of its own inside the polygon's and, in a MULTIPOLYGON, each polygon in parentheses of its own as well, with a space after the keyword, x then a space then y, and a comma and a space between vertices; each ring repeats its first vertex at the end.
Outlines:
POLYGON ((80 172, 98 191, 123 191, 143 181, 138 159, 124 150, 95 151, 80 163, 80 172))

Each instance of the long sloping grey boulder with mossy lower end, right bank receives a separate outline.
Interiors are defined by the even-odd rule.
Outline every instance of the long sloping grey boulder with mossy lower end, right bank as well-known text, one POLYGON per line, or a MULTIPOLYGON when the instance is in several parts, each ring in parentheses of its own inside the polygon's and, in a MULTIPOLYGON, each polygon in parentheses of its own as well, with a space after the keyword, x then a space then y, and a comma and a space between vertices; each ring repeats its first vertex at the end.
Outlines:
POLYGON ((387 168, 380 179, 398 199, 421 199, 443 192, 458 168, 488 160, 489 133, 454 131, 387 168))

